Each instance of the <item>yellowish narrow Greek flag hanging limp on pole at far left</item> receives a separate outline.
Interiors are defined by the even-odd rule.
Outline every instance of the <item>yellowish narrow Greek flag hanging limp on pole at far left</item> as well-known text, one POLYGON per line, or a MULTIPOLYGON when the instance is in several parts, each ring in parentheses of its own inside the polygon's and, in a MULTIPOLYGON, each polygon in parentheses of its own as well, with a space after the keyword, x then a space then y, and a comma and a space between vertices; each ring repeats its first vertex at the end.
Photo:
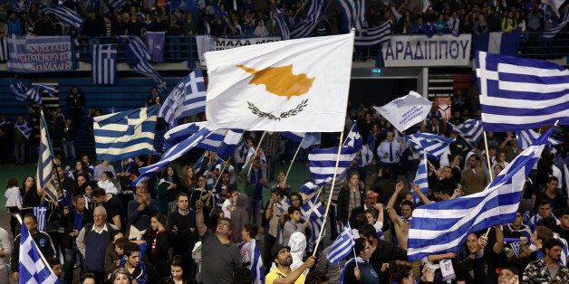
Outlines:
POLYGON ((52 202, 56 203, 57 191, 55 189, 55 175, 53 174, 53 151, 43 114, 42 118, 40 118, 40 148, 38 153, 37 173, 35 177, 37 190, 38 192, 43 190, 52 199, 52 202))

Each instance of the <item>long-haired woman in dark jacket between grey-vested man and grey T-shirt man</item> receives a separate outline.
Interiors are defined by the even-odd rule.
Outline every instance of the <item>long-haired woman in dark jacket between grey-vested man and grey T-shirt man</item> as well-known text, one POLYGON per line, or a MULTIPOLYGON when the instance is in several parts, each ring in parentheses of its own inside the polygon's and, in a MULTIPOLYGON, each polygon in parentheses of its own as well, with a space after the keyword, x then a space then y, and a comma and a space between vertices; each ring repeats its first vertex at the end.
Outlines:
POLYGON ((150 218, 149 228, 146 229, 142 239, 146 241, 146 256, 158 272, 160 277, 169 275, 169 249, 170 231, 166 223, 166 217, 160 213, 150 218))

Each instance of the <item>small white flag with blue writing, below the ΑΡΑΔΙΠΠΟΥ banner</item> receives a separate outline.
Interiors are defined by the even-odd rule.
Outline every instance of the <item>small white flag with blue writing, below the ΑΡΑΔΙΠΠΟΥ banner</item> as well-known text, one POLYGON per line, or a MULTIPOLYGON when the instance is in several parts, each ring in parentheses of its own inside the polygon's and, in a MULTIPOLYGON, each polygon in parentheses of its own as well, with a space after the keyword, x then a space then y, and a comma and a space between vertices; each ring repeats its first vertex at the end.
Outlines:
POLYGON ((419 93, 410 91, 405 97, 393 99, 383 107, 375 107, 375 111, 391 122, 400 132, 420 123, 427 118, 431 102, 419 93))

